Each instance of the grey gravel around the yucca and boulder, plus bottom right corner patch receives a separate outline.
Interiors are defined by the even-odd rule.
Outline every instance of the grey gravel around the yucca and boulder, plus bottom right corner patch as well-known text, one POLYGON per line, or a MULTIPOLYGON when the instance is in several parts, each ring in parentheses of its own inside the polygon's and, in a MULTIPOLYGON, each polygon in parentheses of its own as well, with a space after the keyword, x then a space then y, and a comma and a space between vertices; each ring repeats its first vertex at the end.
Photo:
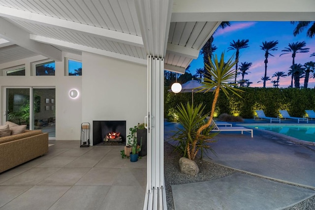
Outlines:
MULTIPOLYGON (((174 210, 171 185, 209 181, 239 172, 208 161, 197 160, 199 173, 197 176, 191 177, 180 172, 178 161, 181 157, 182 155, 174 151, 174 147, 171 144, 164 142, 164 176, 167 210, 174 210)), ((285 210, 315 210, 315 196, 285 210)))

